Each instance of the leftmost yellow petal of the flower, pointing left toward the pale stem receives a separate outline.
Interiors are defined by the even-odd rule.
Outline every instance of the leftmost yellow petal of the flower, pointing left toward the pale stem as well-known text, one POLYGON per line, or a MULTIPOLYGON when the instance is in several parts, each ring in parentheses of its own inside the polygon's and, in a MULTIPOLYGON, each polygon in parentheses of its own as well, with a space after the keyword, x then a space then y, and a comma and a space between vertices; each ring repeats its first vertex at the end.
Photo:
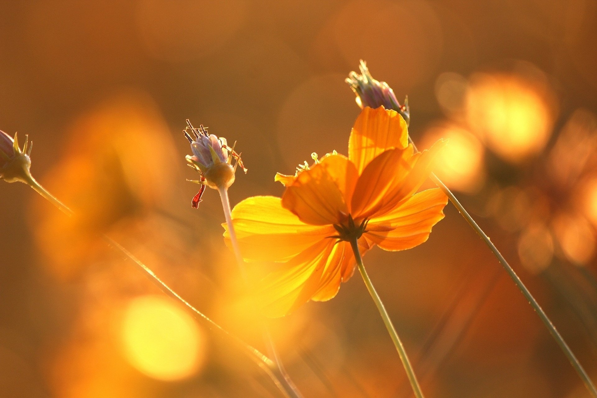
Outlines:
MULTIPOLYGON (((245 261, 286 261, 313 244, 334 235, 333 227, 310 226, 282 207, 274 196, 253 196, 232 209, 232 222, 245 261)), ((230 235, 223 224, 224 240, 230 235)))

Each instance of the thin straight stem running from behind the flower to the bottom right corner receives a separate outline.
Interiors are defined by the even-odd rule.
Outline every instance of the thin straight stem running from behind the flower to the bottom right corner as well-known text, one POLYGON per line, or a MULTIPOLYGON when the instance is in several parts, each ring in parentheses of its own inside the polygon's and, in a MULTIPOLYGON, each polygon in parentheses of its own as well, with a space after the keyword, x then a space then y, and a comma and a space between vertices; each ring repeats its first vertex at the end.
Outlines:
MULTIPOLYGON (((408 137, 408 140, 411 144, 413 144, 414 149, 417 150, 417 147, 414 144, 412 138, 408 137)), ((547 317, 547 314, 545 313, 545 311, 543 311, 543 308, 541 308, 539 303, 537 303, 537 300, 535 300, 531 292, 527 289, 527 286, 525 286, 525 284, 522 283, 520 277, 516 274, 516 272, 510 266, 510 264, 508 264, 504 256, 501 255, 500 251, 496 248, 496 245, 494 245, 493 242, 491 242, 490 237, 487 236, 487 234, 483 232, 483 230, 481 229, 481 227, 478 226, 475 220, 473 220, 473 218, 470 217, 469 212, 467 212, 466 209, 464 209, 463 205, 461 205, 458 199, 456 199, 456 196, 454 196, 451 190, 448 189, 448 187, 445 186, 445 184, 442 183, 442 181, 435 174, 431 174, 430 177, 433 183, 435 183, 439 188, 441 188, 442 191, 444 191, 444 193, 448 196, 450 202, 452 202, 454 207, 456 207, 458 212, 460 212, 462 217, 464 217, 464 220, 466 220, 467 223, 469 223, 470 227, 473 230, 475 230, 475 232, 481 237, 481 239, 484 240, 485 244, 487 244, 491 252, 493 252, 493 254, 496 256, 497 261, 499 261, 501 266, 504 267, 506 272, 509 274, 510 278, 512 278, 512 280, 514 281, 515 285, 522 292, 524 297, 528 300, 529 304, 531 304, 531 307, 533 307, 533 310, 535 310, 537 315, 540 317, 541 322, 543 322, 547 330, 549 330, 549 333, 555 339, 556 343, 558 343, 559 347, 562 349, 562 351, 564 351, 565 356, 570 361, 570 364, 573 366, 578 376, 580 376, 585 387, 587 388, 587 390, 589 390, 591 396, 593 398, 597 398, 597 389, 595 388, 593 382, 590 380, 589 375, 587 375, 587 372, 584 370, 583 366, 580 364, 580 362, 578 362, 578 359, 576 358, 570 347, 568 347, 568 344, 566 344, 564 338, 562 338, 562 335, 559 334, 558 329, 556 329, 552 321, 549 319, 549 317, 547 317)))

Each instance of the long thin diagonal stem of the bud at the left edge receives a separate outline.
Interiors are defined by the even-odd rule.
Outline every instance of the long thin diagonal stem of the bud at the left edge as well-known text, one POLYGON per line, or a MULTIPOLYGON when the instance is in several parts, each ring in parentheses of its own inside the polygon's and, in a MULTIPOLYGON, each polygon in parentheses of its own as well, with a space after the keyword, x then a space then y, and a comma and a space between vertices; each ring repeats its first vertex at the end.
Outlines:
MULTIPOLYGON (((48 192, 48 190, 46 190, 41 184, 39 184, 38 181, 36 181, 32 175, 29 175, 29 178, 27 178, 27 180, 24 182, 30 187, 32 187, 33 190, 39 193, 39 195, 41 195, 44 199, 48 200, 48 202, 52 203, 54 206, 60 209, 60 211, 64 212, 69 216, 73 215, 73 211, 68 206, 64 205, 64 203, 60 202, 60 200, 57 199, 56 196, 48 192)), ((162 292, 164 292, 164 294, 168 295, 176 301, 179 301, 193 314, 193 316, 196 319, 198 319, 201 322, 206 322, 211 329, 220 332, 220 334, 222 334, 224 337, 227 337, 231 341, 233 341, 233 343, 235 343, 239 348, 241 348, 241 350, 244 351, 245 354, 247 354, 247 356, 250 357, 251 360, 253 360, 272 379, 273 383, 276 385, 276 387, 278 387, 280 391, 282 391, 285 397, 293 398, 285 392, 285 388, 282 385, 282 381, 273 372, 273 369, 276 369, 276 365, 271 359, 262 354, 259 350, 257 350, 257 348, 254 348, 251 345, 242 341, 241 338, 236 337, 235 335, 226 331, 226 329, 222 328, 216 322, 211 320, 210 317, 206 316, 197 308, 193 307, 192 304, 184 300, 183 297, 181 297, 176 291, 174 291, 174 289, 170 288, 170 286, 168 286, 164 281, 162 281, 149 267, 143 264, 137 257, 135 257, 130 251, 125 249, 118 242, 116 242, 107 235, 103 235, 103 238, 110 246, 113 246, 114 248, 121 251, 122 254, 124 254, 131 261, 133 261, 134 264, 139 266, 140 269, 143 270, 144 273, 147 274, 147 276, 149 276, 152 282, 155 283, 155 285, 158 286, 158 288, 160 288, 162 292)))

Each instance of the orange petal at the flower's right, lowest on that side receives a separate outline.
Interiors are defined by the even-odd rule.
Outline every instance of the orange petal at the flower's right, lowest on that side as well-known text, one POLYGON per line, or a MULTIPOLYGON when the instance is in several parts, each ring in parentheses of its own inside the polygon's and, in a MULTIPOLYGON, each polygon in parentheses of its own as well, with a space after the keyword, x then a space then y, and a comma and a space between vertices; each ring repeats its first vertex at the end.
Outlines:
POLYGON ((444 218, 448 197, 439 188, 411 196, 392 212, 372 218, 367 236, 380 248, 398 251, 414 248, 429 238, 432 227, 444 218))

